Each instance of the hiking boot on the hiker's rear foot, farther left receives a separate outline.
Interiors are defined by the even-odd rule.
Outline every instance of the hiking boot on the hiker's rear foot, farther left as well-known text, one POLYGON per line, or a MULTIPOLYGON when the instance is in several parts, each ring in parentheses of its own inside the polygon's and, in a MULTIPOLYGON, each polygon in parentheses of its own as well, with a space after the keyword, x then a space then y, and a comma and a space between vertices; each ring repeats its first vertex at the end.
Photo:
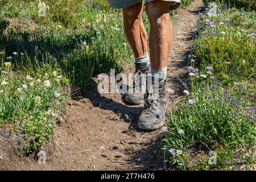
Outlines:
POLYGON ((128 90, 125 100, 130 104, 143 104, 146 93, 146 74, 150 73, 151 64, 140 67, 135 63, 135 73, 133 75, 133 88, 128 90))

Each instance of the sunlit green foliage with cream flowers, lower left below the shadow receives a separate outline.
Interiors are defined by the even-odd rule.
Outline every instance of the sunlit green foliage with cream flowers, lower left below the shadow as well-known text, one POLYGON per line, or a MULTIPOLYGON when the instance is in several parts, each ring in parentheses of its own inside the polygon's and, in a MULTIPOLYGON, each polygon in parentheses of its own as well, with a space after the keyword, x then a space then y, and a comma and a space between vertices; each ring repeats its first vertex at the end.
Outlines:
MULTIPOLYGON (((15 70, 15 65, 5 61, 0 53, 0 126, 6 126, 26 140, 26 152, 32 152, 51 138, 69 94, 62 87, 69 80, 61 76, 57 66, 38 65, 34 69, 15 70)), ((21 61, 26 55, 13 56, 11 61, 21 61)), ((48 58, 51 59, 51 58, 48 58)), ((53 58, 52 58, 53 59, 53 58)))

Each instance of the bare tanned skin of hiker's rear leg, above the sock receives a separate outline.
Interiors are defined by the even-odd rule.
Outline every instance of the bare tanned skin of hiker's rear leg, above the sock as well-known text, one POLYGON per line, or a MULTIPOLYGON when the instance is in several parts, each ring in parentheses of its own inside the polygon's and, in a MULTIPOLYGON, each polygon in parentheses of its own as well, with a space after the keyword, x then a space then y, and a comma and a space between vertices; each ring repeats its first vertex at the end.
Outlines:
POLYGON ((134 57, 147 54, 147 32, 142 22, 143 3, 123 9, 125 33, 133 49, 134 57))

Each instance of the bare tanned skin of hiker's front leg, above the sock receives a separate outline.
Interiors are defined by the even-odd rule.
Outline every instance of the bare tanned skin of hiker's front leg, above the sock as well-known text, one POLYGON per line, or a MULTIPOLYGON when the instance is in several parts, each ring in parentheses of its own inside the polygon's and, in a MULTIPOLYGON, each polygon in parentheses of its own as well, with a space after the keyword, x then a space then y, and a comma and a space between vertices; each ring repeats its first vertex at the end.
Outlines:
POLYGON ((146 13, 150 21, 150 62, 155 70, 167 67, 172 44, 172 23, 167 1, 146 3, 146 13))

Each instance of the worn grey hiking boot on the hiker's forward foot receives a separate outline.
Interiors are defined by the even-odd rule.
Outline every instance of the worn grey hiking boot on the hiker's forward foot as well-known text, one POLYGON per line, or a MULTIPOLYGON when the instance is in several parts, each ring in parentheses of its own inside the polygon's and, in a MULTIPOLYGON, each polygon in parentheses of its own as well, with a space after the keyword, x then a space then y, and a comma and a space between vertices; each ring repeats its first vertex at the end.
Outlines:
POLYGON ((164 125, 167 111, 166 80, 152 83, 145 95, 145 106, 139 116, 138 126, 142 130, 155 130, 164 125), (158 92, 157 92, 158 91, 158 92))

